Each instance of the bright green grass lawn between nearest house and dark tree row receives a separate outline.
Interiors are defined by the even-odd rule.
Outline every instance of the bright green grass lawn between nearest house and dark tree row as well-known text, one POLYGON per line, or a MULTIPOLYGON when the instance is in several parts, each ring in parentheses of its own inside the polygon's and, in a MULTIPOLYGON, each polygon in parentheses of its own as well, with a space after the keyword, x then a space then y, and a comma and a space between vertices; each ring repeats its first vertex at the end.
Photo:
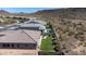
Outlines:
POLYGON ((44 52, 54 52, 52 46, 52 36, 47 36, 46 38, 42 38, 40 50, 44 52))

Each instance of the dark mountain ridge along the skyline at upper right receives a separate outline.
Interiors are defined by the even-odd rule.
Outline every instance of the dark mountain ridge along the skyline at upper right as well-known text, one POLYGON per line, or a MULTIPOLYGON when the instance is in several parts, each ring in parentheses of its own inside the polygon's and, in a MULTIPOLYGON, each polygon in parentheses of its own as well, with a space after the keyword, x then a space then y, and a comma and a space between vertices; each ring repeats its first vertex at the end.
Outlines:
POLYGON ((46 15, 51 17, 62 17, 62 18, 85 18, 86 20, 86 9, 85 8, 70 8, 70 9, 53 9, 44 10, 36 12, 37 15, 46 15))

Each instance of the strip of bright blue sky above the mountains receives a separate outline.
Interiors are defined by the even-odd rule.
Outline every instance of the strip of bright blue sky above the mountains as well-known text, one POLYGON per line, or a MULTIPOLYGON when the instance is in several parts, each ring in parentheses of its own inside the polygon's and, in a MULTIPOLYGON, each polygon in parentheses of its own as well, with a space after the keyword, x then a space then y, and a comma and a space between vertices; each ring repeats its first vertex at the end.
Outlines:
POLYGON ((20 13, 20 12, 34 13, 40 10, 49 10, 49 9, 52 8, 0 8, 0 10, 4 10, 12 13, 20 13))

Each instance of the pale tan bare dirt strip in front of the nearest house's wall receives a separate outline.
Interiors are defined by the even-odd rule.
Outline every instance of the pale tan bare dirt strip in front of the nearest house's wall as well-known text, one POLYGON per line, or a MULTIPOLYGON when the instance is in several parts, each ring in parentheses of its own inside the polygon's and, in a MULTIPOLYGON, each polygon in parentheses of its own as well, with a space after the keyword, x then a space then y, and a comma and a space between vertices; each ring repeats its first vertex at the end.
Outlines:
POLYGON ((0 49, 0 55, 36 55, 37 50, 0 49))

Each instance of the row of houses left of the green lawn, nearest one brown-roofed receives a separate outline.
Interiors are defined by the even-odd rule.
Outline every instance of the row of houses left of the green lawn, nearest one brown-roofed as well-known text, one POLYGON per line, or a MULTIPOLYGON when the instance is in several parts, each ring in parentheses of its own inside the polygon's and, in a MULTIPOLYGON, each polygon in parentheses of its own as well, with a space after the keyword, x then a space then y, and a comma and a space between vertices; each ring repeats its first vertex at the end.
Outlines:
POLYGON ((41 33, 46 33, 46 22, 27 21, 0 31, 0 49, 36 50, 41 33))

